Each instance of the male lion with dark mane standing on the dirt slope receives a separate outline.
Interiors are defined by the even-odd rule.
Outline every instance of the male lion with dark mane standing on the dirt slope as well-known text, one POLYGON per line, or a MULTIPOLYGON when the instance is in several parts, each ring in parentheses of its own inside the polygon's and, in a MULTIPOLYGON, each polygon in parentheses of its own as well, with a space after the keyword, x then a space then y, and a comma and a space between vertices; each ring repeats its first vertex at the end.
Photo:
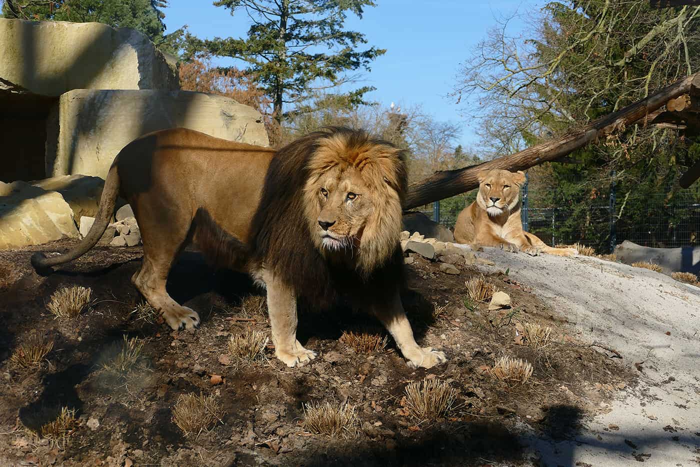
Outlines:
POLYGON ((31 262, 48 269, 87 252, 120 194, 144 242, 132 282, 173 329, 200 323, 165 290, 176 256, 191 241, 219 266, 267 287, 275 355, 290 367, 316 356, 296 339, 297 298, 323 308, 344 297, 384 323, 409 366, 429 368, 444 362, 444 353, 416 344, 399 295, 405 189, 402 151, 362 131, 327 128, 275 151, 162 130, 120 151, 83 241, 31 262))

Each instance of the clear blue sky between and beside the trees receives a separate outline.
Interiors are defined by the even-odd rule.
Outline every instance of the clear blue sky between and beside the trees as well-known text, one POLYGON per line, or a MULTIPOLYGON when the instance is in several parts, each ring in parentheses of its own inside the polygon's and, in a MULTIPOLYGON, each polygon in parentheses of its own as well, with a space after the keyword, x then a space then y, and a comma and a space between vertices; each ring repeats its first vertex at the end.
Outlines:
MULTIPOLYGON (((362 20, 350 15, 349 29, 363 32, 368 45, 386 48, 386 54, 365 72, 363 83, 374 86, 370 100, 388 105, 421 105, 423 111, 439 121, 463 126, 460 138, 465 147, 477 142, 470 119, 462 115, 454 98, 447 97, 456 83, 459 65, 496 19, 515 11, 527 13, 542 1, 535 0, 377 0, 376 8, 367 8, 362 20)), ((188 25, 195 36, 244 36, 248 18, 244 11, 229 11, 211 4, 211 0, 170 0, 165 8, 168 32, 188 25)), ((517 32, 514 22, 510 32, 517 32)))

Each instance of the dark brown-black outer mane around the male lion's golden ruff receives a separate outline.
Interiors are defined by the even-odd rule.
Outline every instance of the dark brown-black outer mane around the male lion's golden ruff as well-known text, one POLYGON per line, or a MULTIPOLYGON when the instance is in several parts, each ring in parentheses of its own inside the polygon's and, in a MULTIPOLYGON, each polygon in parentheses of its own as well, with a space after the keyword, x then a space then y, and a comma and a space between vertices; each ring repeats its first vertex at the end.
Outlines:
MULTIPOLYGON (((311 133, 279 149, 267 170, 262 198, 251 224, 251 250, 254 261, 264 264, 300 298, 314 307, 326 308, 339 298, 363 304, 387 295, 402 283, 403 255, 399 239, 391 258, 363 277, 354 269, 330 264, 311 238, 304 210, 303 189, 309 179, 309 158, 318 140, 342 133, 349 144, 357 141, 390 145, 372 140, 364 132, 348 128, 326 128, 311 133)), ((405 170, 400 176, 403 199, 405 170)))

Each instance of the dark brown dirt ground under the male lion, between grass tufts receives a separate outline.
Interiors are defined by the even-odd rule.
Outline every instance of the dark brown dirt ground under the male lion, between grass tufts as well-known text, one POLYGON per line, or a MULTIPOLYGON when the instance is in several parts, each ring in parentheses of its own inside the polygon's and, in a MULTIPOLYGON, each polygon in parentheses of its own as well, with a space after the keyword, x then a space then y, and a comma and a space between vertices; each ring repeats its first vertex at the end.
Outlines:
MULTIPOLYGON (((142 299, 130 278, 141 249, 97 247, 50 276, 29 264, 37 250, 64 251, 69 241, 0 252, 0 463, 60 466, 482 466, 530 465, 517 431, 567 438, 608 410, 637 375, 613 353, 573 337, 565 316, 517 283, 507 271, 486 280, 512 297, 507 312, 465 300, 465 280, 482 266, 457 264, 458 275, 416 257, 407 264, 404 306, 422 346, 443 350, 448 363, 411 370, 392 341, 387 351, 357 354, 339 341, 343 331, 386 334, 370 316, 337 309, 300 313, 298 338, 318 352, 309 365, 290 369, 274 358, 236 365, 228 356, 232 334, 247 328, 269 332, 265 316, 244 313, 241 301, 261 295, 246 276, 214 271, 196 252, 174 267, 169 292, 200 313, 202 325, 172 332, 141 320, 142 299), (59 320, 46 311, 62 285, 92 288, 94 304, 79 318, 59 320), (437 320, 433 309, 445 305, 437 320), (552 327, 553 340, 534 351, 515 339, 516 323, 552 327), (22 369, 10 360, 30 332, 54 339, 40 366, 22 369), (104 370, 124 335, 144 339, 144 360, 123 376, 104 370), (524 386, 507 388, 487 368, 501 355, 534 367, 524 386), (220 375, 220 384, 212 384, 220 375), (449 381, 458 408, 445 419, 405 415, 401 400, 410 381, 449 381), (196 439, 172 422, 181 394, 216 395, 221 423, 196 439), (305 402, 356 406, 358 438, 335 440, 304 431, 305 402), (62 407, 76 410, 79 425, 65 445, 36 438, 62 407), (88 423, 89 422, 89 423, 88 423)), ((491 268, 493 269, 493 268, 491 268)))

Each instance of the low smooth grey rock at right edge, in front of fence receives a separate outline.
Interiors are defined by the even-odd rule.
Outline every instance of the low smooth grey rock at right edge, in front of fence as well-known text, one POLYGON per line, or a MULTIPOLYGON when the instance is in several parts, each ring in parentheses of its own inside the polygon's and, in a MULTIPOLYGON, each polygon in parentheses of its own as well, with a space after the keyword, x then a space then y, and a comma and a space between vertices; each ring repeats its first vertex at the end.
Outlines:
POLYGON ((700 274, 700 246, 650 248, 625 240, 615 247, 615 255, 625 264, 638 261, 658 264, 666 274, 675 271, 700 274))

